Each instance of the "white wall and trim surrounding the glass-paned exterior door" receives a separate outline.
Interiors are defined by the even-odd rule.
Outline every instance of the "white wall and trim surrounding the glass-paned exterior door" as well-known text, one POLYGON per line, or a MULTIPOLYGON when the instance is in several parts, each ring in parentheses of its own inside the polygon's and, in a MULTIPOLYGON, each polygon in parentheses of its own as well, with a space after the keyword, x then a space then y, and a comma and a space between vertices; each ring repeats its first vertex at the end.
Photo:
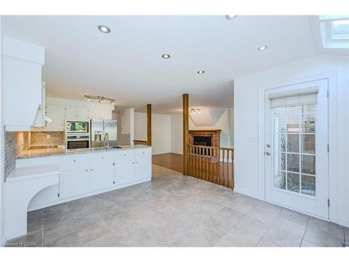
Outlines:
MULTIPOLYGON (((259 121, 259 89, 272 83, 304 78, 335 71, 337 75, 338 94, 336 110, 335 138, 336 174, 331 174, 332 184, 336 184, 334 192, 330 191, 330 219, 336 223, 349 226, 348 201, 348 75, 349 57, 318 56, 304 59, 283 66, 270 68, 252 75, 235 79, 234 85, 234 136, 235 136, 235 190, 249 196, 258 197, 258 121, 259 121), (331 195, 332 194, 332 195, 331 195), (332 210, 332 212, 331 212, 332 210), (332 215, 331 215, 332 214, 332 215)), ((335 99, 329 97, 329 99, 335 99)), ((333 108, 332 108, 333 109, 333 108)), ((331 108, 330 108, 331 110, 331 108)), ((330 145, 331 148, 331 145, 330 145)), ((333 148, 333 147, 332 147, 333 148)))

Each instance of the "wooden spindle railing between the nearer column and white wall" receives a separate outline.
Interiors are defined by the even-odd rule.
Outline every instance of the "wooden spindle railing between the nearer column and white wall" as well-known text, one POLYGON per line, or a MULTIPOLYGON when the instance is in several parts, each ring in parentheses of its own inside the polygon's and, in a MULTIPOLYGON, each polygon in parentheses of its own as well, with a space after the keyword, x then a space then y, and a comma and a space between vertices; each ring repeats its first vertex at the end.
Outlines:
POLYGON ((188 175, 234 188, 234 149, 188 145, 188 175))

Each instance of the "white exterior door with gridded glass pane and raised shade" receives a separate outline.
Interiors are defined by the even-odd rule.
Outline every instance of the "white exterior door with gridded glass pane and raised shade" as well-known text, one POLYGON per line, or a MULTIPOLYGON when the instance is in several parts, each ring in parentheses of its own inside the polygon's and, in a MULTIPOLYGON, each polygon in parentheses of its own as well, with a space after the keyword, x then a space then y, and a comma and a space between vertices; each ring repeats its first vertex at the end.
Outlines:
POLYGON ((328 218, 327 80, 265 94, 265 200, 328 218))

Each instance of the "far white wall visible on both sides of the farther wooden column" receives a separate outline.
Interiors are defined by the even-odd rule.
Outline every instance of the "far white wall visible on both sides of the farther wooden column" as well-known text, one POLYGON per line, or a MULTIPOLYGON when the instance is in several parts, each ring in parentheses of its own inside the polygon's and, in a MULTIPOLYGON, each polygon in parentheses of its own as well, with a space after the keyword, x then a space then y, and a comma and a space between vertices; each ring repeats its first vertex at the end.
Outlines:
MULTIPOLYGON (((170 115, 151 114, 151 152, 171 152, 170 115)), ((147 140, 147 113, 135 112, 135 140, 147 140)))

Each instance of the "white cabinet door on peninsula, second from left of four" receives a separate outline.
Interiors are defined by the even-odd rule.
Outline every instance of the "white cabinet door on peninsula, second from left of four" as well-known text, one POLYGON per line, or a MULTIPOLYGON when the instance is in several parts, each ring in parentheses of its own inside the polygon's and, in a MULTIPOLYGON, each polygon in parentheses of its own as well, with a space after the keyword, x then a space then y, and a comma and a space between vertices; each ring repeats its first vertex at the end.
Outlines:
POLYGON ((90 169, 91 191, 107 189, 114 185, 113 162, 93 163, 90 169))

